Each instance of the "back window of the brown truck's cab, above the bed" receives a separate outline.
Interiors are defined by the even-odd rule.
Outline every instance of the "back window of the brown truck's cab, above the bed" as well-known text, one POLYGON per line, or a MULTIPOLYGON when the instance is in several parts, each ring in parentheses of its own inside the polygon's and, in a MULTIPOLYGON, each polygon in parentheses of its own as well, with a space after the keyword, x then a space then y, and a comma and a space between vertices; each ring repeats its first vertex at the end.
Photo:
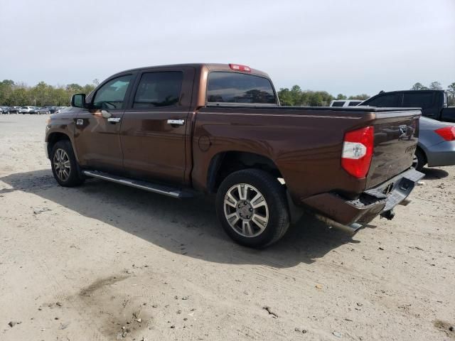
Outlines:
POLYGON ((237 72, 210 72, 207 102, 277 104, 267 78, 237 72))

